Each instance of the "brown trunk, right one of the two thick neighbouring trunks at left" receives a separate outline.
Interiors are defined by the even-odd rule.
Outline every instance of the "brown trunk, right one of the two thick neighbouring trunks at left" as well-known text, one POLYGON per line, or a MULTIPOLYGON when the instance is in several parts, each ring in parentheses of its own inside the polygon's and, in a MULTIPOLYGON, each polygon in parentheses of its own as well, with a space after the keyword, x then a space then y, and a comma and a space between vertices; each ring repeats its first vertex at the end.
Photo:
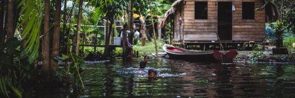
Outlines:
MULTIPOLYGON (((54 18, 54 35, 52 42, 51 57, 59 56, 59 31, 60 31, 60 10, 61 10, 61 0, 57 0, 56 3, 56 14, 54 18)), ((51 58, 51 71, 55 72, 59 62, 51 58)))

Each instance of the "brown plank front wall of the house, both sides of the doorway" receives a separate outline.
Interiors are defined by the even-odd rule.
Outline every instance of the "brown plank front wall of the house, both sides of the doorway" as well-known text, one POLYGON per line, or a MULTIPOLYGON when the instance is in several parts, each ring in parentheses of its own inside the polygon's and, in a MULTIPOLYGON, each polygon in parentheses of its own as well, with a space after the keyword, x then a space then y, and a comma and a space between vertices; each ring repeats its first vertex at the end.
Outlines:
MULTIPOLYGON (((233 16, 233 41, 264 41, 265 10, 255 12, 255 20, 242 20, 242 2, 255 2, 255 8, 263 5, 263 0, 186 0, 181 7, 181 39, 184 41, 216 41, 218 1, 232 1, 236 11, 233 16), (208 18, 195 20, 195 1, 208 1, 208 18), (183 27, 184 26, 184 27, 183 27), (183 29, 184 28, 184 29, 183 29)), ((174 40, 179 41, 179 11, 176 11, 174 40)))

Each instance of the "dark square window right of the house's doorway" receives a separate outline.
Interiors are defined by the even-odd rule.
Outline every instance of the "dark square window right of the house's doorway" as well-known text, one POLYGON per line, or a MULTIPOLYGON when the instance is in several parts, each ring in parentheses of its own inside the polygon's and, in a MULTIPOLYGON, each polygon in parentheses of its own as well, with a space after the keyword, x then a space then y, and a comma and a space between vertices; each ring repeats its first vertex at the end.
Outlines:
POLYGON ((242 2, 242 19, 243 20, 254 20, 255 12, 254 12, 255 2, 242 2))

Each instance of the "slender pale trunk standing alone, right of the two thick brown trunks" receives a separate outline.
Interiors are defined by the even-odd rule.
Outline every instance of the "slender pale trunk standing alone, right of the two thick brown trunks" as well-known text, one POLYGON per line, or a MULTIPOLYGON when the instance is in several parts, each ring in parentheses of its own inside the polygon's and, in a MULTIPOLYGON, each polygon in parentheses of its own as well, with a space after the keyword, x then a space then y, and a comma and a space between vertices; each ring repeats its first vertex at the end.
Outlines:
POLYGON ((79 2, 79 17, 78 17, 78 24, 77 24, 77 39, 76 39, 76 55, 79 55, 79 47, 80 47, 80 30, 81 30, 81 21, 82 21, 82 6, 83 0, 79 2))

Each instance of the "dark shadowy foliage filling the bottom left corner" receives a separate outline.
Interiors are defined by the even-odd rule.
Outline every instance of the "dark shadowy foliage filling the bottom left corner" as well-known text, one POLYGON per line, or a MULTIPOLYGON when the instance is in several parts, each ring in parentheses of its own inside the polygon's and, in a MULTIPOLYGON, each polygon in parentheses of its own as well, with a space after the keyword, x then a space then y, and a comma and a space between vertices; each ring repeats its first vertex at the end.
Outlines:
POLYGON ((11 64, 9 56, 20 55, 17 49, 21 44, 17 38, 11 38, 3 45, 0 45, 0 95, 6 97, 22 96, 21 84, 29 79, 31 70, 28 62, 28 55, 24 58, 18 58, 18 66, 11 64), (6 51, 6 52, 5 52, 6 51))

